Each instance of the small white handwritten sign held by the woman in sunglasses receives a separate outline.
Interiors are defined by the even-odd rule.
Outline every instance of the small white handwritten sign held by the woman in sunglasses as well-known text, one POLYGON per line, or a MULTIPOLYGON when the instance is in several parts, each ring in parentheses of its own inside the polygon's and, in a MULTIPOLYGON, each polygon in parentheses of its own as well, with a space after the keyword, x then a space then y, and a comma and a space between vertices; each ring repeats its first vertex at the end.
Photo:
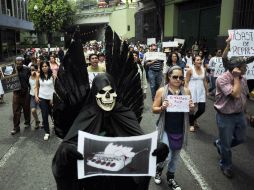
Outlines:
POLYGON ((168 107, 167 112, 189 112, 189 102, 190 96, 189 95, 168 95, 168 107))

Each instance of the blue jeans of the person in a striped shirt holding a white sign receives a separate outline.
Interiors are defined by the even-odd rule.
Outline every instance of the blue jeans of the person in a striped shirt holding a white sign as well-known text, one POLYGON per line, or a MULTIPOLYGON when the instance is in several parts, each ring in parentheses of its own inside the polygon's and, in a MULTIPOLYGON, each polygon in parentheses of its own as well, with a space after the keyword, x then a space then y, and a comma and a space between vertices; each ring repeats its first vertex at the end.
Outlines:
POLYGON ((148 78, 150 82, 150 88, 151 88, 151 94, 152 94, 152 100, 154 100, 156 91, 161 85, 162 81, 162 72, 161 71, 153 71, 151 69, 148 70, 148 78))

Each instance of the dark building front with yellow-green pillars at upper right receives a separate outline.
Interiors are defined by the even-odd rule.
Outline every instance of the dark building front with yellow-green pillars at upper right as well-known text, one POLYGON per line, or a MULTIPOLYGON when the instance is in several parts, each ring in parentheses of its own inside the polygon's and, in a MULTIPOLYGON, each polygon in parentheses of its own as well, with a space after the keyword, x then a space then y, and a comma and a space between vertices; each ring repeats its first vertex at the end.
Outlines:
MULTIPOLYGON (((157 1, 158 2, 158 1, 157 1)), ((253 0, 161 0, 164 12, 163 41, 185 39, 190 48, 195 41, 210 52, 224 48, 229 29, 254 29, 253 0)), ((160 39, 154 1, 140 0, 136 13, 136 40, 160 39), (147 19, 150 17, 149 19, 147 19), (146 18, 146 20, 145 20, 146 18), (147 27, 148 26, 148 27, 147 27), (139 28, 139 30, 138 30, 139 28), (150 32, 147 34, 147 31, 150 32)))

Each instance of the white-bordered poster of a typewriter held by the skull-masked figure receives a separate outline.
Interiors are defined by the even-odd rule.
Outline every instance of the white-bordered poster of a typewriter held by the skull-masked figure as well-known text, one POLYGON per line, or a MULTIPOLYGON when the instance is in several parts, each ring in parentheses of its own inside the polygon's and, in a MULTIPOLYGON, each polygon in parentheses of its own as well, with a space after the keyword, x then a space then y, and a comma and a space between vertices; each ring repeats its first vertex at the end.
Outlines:
POLYGON ((132 137, 78 134, 78 179, 92 176, 154 176, 158 132, 132 137))

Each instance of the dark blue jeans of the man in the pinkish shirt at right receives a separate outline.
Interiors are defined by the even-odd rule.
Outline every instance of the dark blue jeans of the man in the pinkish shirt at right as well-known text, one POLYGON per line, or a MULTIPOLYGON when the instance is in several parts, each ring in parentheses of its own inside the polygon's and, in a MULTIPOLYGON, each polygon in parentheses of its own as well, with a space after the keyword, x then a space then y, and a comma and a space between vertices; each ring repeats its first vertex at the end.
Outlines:
POLYGON ((220 166, 222 169, 229 169, 232 167, 231 147, 246 140, 247 120, 244 113, 217 113, 216 122, 219 129, 217 144, 221 152, 220 166))

